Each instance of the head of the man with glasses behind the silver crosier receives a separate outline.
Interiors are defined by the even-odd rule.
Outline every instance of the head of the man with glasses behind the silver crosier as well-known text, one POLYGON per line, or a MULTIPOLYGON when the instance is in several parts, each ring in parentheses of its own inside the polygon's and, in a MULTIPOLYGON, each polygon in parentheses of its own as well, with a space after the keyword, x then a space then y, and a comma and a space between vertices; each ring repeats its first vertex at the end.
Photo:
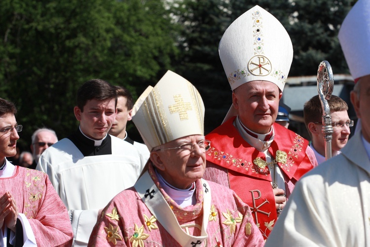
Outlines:
MULTIPOLYGON (((332 116, 333 135, 332 135, 332 157, 340 154, 340 150, 347 144, 351 133, 350 127, 353 121, 348 117, 348 105, 338 96, 332 95, 328 100, 332 116)), ((322 132, 323 108, 319 95, 313 96, 303 107, 304 124, 311 137, 310 147, 315 153, 317 163, 320 165, 325 161, 325 140, 322 132)))

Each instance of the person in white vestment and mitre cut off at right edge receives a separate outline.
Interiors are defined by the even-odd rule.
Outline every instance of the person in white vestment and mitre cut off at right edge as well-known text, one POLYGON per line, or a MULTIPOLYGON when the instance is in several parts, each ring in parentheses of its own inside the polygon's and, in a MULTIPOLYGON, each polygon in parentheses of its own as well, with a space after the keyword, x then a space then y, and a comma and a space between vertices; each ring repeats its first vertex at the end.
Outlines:
POLYGON ((370 1, 359 0, 339 30, 361 119, 341 154, 302 177, 266 247, 370 246, 370 1))

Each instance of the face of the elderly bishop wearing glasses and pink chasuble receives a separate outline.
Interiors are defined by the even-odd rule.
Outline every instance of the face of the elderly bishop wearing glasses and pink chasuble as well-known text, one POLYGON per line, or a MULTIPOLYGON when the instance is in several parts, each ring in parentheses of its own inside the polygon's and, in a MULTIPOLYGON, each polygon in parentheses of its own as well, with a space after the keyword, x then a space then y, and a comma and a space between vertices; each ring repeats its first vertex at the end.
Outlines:
POLYGON ((154 148, 159 150, 152 151, 150 159, 169 184, 178 189, 187 189, 205 172, 206 153, 202 141, 203 135, 189 135, 176 139, 154 148), (180 146, 182 148, 177 148, 180 146))

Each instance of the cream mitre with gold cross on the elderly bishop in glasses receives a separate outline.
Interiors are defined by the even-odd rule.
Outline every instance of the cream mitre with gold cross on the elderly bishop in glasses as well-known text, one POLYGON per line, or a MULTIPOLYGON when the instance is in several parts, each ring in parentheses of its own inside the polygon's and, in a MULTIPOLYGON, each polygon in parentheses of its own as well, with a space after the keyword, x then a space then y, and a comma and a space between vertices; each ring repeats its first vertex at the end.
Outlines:
POLYGON ((204 104, 198 90, 172 71, 136 101, 132 121, 151 151, 188 135, 204 135, 204 104))

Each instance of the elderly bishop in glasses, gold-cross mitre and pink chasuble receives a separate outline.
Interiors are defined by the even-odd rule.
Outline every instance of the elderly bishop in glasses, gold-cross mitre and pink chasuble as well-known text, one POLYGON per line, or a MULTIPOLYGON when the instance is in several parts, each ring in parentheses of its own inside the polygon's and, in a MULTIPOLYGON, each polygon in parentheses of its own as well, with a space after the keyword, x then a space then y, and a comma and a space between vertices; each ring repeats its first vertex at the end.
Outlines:
POLYGON ((190 82, 168 71, 139 97, 132 120, 150 160, 134 187, 104 208, 89 246, 263 246, 249 206, 202 179, 210 142, 190 82))

